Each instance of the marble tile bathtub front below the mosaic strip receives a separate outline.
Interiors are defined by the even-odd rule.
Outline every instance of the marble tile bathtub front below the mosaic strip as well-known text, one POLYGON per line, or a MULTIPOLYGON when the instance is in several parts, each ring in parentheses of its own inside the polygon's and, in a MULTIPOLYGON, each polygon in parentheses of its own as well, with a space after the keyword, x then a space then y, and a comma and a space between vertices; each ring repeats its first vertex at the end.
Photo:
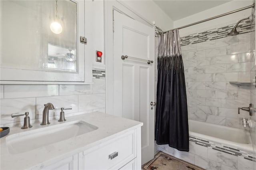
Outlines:
POLYGON ((179 151, 175 148, 171 148, 168 144, 157 145, 157 150, 180 158, 191 164, 200 166, 206 170, 254 170, 254 161, 250 160, 252 154, 249 156, 235 155, 228 152, 222 152, 220 150, 213 149, 211 146, 202 146, 195 142, 189 142, 189 152, 179 151), (248 157, 244 158, 244 157, 248 157))

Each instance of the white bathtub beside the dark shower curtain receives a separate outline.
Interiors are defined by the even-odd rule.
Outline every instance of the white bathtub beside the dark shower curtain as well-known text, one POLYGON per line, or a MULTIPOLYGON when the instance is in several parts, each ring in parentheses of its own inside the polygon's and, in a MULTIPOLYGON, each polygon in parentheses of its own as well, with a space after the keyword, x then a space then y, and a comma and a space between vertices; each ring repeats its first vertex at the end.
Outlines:
POLYGON ((215 125, 199 121, 188 121, 189 136, 252 152, 252 140, 248 130, 215 125))

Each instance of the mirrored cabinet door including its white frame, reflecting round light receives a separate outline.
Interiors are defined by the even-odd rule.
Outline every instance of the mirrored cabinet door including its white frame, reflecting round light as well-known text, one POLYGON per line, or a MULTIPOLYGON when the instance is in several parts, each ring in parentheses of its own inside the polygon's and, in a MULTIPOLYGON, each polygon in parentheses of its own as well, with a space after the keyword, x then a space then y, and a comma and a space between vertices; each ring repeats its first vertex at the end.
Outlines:
POLYGON ((84 1, 0 1, 0 18, 1 83, 84 81, 84 1))

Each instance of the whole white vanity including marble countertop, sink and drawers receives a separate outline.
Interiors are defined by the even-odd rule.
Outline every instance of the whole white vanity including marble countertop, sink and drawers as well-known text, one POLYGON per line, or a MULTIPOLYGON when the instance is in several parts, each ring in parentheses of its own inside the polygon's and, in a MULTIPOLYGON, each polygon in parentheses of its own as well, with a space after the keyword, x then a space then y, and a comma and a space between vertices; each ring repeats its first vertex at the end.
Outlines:
POLYGON ((34 129, 26 131, 20 126, 11 127, 10 134, 0 138, 0 169, 140 170, 142 125, 138 121, 92 112, 68 117, 62 123, 52 119, 51 124, 46 125, 48 127, 33 124, 34 129), (84 122, 86 126, 77 122, 84 122), (88 131, 91 128, 94 130, 88 131), (56 132, 61 132, 61 135, 56 132), (44 137, 44 134, 49 135, 49 138, 44 137), (72 136, 62 138, 66 134, 72 136), (60 140, 53 140, 53 135, 60 140), (35 148, 35 142, 44 144, 35 148), (22 150, 24 144, 26 150, 22 150))

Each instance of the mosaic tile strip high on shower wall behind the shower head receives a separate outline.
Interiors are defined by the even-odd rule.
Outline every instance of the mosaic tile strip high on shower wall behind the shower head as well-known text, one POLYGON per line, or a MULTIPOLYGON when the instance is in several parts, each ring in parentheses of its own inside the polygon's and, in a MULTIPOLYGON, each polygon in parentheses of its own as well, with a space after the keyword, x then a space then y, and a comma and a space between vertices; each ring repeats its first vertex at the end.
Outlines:
MULTIPOLYGON (((215 28, 212 30, 200 32, 200 33, 194 33, 190 34, 188 36, 181 37, 181 46, 184 45, 190 45, 194 43, 200 43, 200 42, 206 42, 206 41, 211 41, 211 40, 216 40, 219 38, 225 38, 228 37, 228 33, 234 28, 234 24, 230 24, 228 26, 223 26, 221 28, 215 28)), ((250 32, 251 28, 251 23, 250 20, 245 20, 240 22, 240 24, 236 27, 238 32, 240 34, 248 33, 250 32)))

